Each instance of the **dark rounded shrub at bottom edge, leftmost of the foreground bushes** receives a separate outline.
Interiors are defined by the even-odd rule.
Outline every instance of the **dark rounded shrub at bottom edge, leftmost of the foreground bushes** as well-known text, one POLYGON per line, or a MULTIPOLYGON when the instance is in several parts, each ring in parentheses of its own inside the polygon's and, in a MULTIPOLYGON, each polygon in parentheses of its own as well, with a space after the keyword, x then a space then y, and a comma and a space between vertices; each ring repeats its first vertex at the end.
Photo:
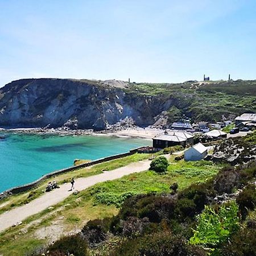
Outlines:
POLYGON ((48 247, 49 255, 69 255, 87 256, 88 245, 78 234, 70 237, 63 237, 48 247))

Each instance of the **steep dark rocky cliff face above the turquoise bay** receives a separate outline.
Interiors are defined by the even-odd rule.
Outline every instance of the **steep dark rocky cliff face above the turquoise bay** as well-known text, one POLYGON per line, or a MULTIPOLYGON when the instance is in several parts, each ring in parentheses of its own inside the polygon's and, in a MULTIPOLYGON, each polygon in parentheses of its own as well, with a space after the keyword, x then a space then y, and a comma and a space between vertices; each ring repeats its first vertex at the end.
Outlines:
POLYGON ((144 96, 94 81, 24 79, 0 89, 0 126, 60 127, 102 130, 126 117, 148 126, 175 102, 144 96))

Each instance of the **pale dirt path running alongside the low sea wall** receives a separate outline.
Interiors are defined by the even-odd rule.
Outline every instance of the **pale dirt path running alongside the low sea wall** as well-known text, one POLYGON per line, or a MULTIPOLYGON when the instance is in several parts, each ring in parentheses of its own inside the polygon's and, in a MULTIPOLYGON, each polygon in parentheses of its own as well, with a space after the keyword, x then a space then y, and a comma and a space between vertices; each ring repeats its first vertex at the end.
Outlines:
MULTIPOLYGON (((133 174, 134 172, 142 172, 148 170, 150 167, 150 160, 143 160, 137 163, 128 164, 125 167, 117 168, 113 171, 106 171, 102 174, 79 178, 75 181, 75 189, 77 191, 84 190, 85 188, 91 187, 96 183, 118 179, 122 176, 133 174)), ((31 201, 26 205, 14 208, 0 215, 0 232, 10 228, 13 225, 18 224, 20 221, 25 220, 36 213, 41 212, 52 205, 55 205, 63 201, 66 197, 71 195, 73 191, 69 191, 71 184, 60 185, 59 189, 55 189, 51 192, 45 193, 38 199, 31 201)))

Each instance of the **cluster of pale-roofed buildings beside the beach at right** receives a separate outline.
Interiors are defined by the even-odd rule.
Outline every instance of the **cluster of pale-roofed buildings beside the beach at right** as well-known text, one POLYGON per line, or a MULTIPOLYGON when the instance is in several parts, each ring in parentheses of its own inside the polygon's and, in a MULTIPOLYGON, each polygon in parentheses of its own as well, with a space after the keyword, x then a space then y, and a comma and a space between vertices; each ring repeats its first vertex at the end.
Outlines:
POLYGON ((254 130, 256 129, 256 114, 244 113, 236 117, 234 122, 232 120, 216 123, 201 121, 193 124, 191 124, 189 118, 184 116, 180 122, 172 123, 171 129, 154 137, 153 147, 162 149, 177 145, 181 145, 184 148, 190 146, 190 148, 184 152, 184 159, 200 160, 205 158, 208 152, 208 148, 202 143, 227 138, 228 134, 222 131, 222 129, 233 124, 236 125, 236 127, 230 131, 230 134, 254 130), (198 140, 198 135, 201 136, 200 140, 198 140))

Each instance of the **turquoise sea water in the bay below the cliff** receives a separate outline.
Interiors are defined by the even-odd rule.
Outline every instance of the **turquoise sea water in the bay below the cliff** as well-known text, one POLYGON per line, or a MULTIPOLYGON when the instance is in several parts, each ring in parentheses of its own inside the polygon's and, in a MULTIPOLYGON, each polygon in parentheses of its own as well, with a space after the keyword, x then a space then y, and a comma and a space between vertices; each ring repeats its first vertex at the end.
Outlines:
POLYGON ((150 141, 108 136, 3 134, 0 139, 0 192, 30 183, 48 172, 147 146, 150 141))

